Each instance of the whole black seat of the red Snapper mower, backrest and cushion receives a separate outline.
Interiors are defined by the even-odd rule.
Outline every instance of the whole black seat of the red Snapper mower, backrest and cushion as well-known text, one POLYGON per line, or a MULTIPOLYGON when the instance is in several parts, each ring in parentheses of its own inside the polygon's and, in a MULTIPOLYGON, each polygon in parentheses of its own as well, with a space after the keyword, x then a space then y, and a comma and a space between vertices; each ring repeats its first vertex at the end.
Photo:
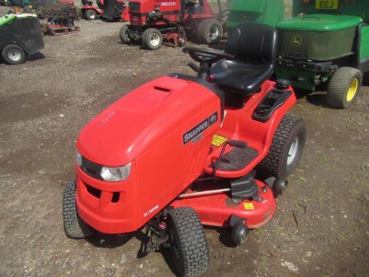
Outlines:
POLYGON ((236 26, 225 50, 235 59, 222 60, 213 66, 213 82, 226 91, 226 97, 228 93, 253 95, 273 74, 276 48, 276 28, 258 23, 236 26))

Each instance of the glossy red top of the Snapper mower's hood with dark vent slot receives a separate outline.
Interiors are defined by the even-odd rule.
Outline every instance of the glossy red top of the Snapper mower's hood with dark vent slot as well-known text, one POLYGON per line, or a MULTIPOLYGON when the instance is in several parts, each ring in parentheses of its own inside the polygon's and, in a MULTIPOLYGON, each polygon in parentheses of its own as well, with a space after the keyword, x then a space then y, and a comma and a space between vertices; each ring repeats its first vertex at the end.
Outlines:
POLYGON ((124 166, 214 98, 195 82, 167 76, 153 80, 91 120, 78 137, 78 151, 103 166, 124 166))

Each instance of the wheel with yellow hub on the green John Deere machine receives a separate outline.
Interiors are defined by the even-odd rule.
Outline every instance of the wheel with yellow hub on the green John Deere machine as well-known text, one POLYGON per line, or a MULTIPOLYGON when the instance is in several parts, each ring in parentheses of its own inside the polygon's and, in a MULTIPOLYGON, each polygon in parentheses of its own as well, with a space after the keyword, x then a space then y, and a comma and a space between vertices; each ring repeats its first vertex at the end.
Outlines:
POLYGON ((341 67, 332 76, 327 87, 327 102, 338 109, 354 104, 359 94, 363 74, 352 67, 341 67))

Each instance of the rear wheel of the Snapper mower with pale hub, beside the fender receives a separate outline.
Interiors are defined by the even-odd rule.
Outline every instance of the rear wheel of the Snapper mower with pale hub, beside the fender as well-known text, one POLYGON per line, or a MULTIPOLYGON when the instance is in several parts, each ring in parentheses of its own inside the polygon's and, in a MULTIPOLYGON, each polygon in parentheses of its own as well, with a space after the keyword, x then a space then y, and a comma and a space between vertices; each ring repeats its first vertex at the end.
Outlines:
POLYGON ((273 177, 289 177, 303 156, 305 141, 304 120, 285 115, 274 133, 267 157, 259 165, 260 170, 273 177))

